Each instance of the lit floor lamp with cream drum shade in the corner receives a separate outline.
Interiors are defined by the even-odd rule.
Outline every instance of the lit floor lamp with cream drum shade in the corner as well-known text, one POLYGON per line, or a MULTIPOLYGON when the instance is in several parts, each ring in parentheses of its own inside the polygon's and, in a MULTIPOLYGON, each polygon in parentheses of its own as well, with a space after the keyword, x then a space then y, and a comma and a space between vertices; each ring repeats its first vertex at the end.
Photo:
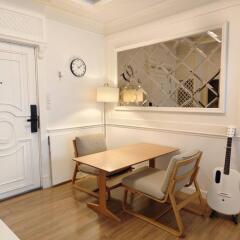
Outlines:
POLYGON ((103 124, 104 136, 106 138, 106 103, 114 103, 119 101, 119 88, 110 87, 108 84, 97 88, 97 102, 103 103, 103 124))

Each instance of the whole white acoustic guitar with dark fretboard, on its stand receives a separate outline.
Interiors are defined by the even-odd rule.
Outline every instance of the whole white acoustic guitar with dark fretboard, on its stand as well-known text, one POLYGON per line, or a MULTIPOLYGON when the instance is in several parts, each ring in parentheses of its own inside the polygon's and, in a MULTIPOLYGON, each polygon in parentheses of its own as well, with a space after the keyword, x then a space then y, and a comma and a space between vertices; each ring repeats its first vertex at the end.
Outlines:
POLYGON ((230 168, 232 138, 235 131, 235 128, 228 128, 224 168, 217 167, 213 170, 207 203, 213 210, 211 216, 216 212, 232 215, 233 221, 237 224, 240 213, 240 174, 230 168))

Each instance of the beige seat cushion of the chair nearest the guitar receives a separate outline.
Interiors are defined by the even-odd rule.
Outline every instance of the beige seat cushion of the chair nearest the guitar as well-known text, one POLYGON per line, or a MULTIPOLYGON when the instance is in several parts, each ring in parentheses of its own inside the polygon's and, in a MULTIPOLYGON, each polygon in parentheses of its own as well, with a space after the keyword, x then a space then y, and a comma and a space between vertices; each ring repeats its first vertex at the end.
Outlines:
POLYGON ((163 199, 165 194, 161 191, 161 185, 165 176, 165 170, 142 167, 128 177, 123 178, 124 186, 143 192, 149 196, 163 199))

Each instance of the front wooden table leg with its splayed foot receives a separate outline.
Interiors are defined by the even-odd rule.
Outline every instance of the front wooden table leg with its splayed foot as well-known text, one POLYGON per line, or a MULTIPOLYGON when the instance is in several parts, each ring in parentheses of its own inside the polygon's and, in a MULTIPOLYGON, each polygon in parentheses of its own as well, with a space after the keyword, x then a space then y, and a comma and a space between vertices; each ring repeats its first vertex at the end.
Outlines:
POLYGON ((88 203, 87 206, 94 211, 114 219, 116 221, 121 221, 115 214, 113 214, 107 208, 107 198, 106 198, 106 172, 100 171, 98 175, 98 187, 99 187, 99 203, 88 203))

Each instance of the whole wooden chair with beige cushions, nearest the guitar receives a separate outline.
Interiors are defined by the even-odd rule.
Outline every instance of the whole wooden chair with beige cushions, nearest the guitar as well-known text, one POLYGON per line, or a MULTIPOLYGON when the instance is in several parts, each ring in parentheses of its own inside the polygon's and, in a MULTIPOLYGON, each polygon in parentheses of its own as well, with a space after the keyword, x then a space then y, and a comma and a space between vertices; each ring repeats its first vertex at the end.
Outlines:
POLYGON ((199 215, 204 215, 204 203, 201 192, 197 183, 197 173, 199 171, 199 161, 202 152, 197 151, 192 154, 180 154, 174 156, 166 171, 150 167, 143 167, 134 171, 130 176, 122 181, 125 187, 123 197, 123 209, 127 213, 134 215, 144 221, 147 221, 175 236, 184 236, 184 226, 180 216, 180 210, 183 209, 191 201, 198 199, 202 211, 190 210, 199 215), (195 192, 186 197, 181 202, 177 203, 175 193, 183 187, 189 187, 194 184, 195 192), (170 203, 169 208, 161 213, 158 218, 163 216, 169 210, 173 210, 178 229, 174 229, 160 222, 136 213, 127 206, 128 192, 134 194, 139 193, 148 198, 151 198, 159 203, 170 203))

